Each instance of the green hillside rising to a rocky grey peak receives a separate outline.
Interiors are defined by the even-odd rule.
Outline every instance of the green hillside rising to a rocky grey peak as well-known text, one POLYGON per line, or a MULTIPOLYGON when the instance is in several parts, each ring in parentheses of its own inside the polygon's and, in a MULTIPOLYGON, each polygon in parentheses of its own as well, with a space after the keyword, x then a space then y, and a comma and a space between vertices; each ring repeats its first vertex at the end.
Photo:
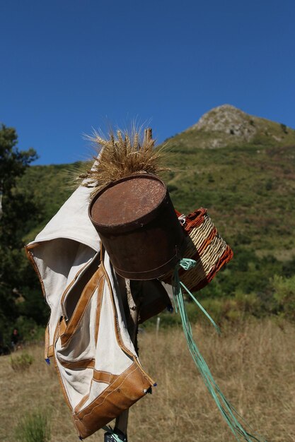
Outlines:
MULTIPOLYGON (((175 208, 182 213, 207 208, 234 253, 198 298, 216 321, 248 314, 295 318, 294 130, 221 107, 165 144, 174 172, 164 178, 175 208)), ((69 197, 73 189, 68 172, 78 166, 32 166, 18 180, 18 189, 39 208, 23 229, 25 243, 69 197)), ((39 283, 23 260, 29 282, 18 287, 25 299, 19 311, 41 325, 47 313, 37 307, 39 283)), ((189 310, 194 316, 195 309, 189 310)), ((167 321, 178 322, 170 316, 167 321)))

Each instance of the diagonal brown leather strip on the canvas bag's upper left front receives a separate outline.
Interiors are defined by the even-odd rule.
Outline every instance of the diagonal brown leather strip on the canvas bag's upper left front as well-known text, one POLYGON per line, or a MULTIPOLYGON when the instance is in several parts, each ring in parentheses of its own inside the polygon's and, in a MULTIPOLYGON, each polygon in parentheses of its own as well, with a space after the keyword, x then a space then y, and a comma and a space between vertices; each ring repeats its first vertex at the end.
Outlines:
POLYGON ((69 322, 66 324, 66 327, 64 327, 65 323, 64 319, 62 320, 62 327, 60 328, 61 332, 60 339, 62 347, 64 347, 64 345, 69 343, 69 340, 71 340, 72 335, 75 333, 76 329, 78 328, 81 318, 83 317, 83 314, 85 313, 87 306, 91 301, 91 297, 93 296, 93 293, 96 291, 96 287, 100 286, 100 280, 103 278, 103 276, 104 276, 103 269, 99 267, 98 270, 96 270, 96 273, 94 273, 94 275, 91 277, 91 280, 84 287, 83 292, 81 293, 81 297, 78 301, 78 304, 76 305, 76 308, 74 310, 74 313, 71 316, 69 322))

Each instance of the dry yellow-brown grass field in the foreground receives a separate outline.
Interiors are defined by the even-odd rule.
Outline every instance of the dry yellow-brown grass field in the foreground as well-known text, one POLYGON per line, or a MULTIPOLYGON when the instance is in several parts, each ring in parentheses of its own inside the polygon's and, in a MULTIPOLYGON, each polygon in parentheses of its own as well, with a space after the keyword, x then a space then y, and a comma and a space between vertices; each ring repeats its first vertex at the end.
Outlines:
MULTIPOLYGON (((268 442, 295 441, 295 325, 251 321, 223 330, 221 337, 197 325, 194 333, 238 412, 268 442)), ((202 383, 182 330, 141 333, 139 347, 141 364, 158 386, 132 407, 129 442, 235 440, 202 383)), ((16 442, 18 419, 34 410, 50 411, 52 442, 79 441, 54 367, 43 362, 42 347, 25 352, 34 362, 23 371, 13 371, 10 356, 0 358, 0 441, 16 442)), ((103 431, 87 441, 103 442, 103 431)))

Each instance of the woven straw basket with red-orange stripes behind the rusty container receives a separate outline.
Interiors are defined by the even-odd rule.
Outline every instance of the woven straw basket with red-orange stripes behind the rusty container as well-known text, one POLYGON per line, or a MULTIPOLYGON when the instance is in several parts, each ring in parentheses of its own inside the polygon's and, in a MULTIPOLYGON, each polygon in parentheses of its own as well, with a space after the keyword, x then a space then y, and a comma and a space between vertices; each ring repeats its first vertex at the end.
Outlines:
MULTIPOLYGON (((187 216, 180 215, 177 210, 176 213, 187 234, 183 258, 197 262, 190 270, 180 269, 180 280, 191 292, 196 292, 209 284, 221 267, 231 260, 233 251, 217 232, 207 209, 199 208, 187 216)), ((172 276, 170 271, 161 279, 170 283, 172 276)))

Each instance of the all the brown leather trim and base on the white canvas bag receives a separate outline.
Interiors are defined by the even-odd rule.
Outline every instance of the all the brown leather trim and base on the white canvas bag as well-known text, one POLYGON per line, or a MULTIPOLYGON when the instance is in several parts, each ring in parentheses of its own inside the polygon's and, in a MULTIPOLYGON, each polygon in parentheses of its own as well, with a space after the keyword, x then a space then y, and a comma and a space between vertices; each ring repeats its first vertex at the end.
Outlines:
MULTIPOLYGON (((146 390, 148 390, 152 385, 154 385, 154 381, 149 378, 149 376, 144 372, 144 370, 141 368, 141 365, 139 364, 139 361, 136 357, 136 355, 132 354, 127 347, 125 347, 124 342, 122 341, 122 336, 120 335, 120 325, 117 320, 117 310, 115 307, 115 299, 114 294, 112 292, 112 287, 110 285, 110 279, 108 277, 108 273, 105 271, 105 267, 102 264, 100 266, 101 275, 99 273, 99 277, 97 274, 93 275, 95 276, 96 280, 96 286, 94 287, 93 291, 86 290, 86 287, 92 286, 92 277, 91 280, 88 282, 87 286, 85 287, 85 292, 83 290, 81 294, 82 302, 81 306, 79 306, 79 309, 75 309, 74 313, 71 316, 71 319, 69 323, 67 324, 66 330, 64 332, 64 335, 69 333, 69 325, 71 326, 72 333, 75 332, 76 327, 79 324, 79 318, 81 319, 81 316, 83 315, 83 311, 87 307, 87 296, 86 292, 88 292, 88 298, 90 299, 94 290, 96 287, 98 287, 99 292, 101 294, 101 298, 103 297, 103 287, 104 282, 106 281, 108 284, 108 288, 110 290, 110 299, 112 302, 112 309, 114 314, 114 320, 115 320, 115 335, 117 342, 119 343, 122 351, 124 351, 126 354, 129 355, 130 358, 133 359, 132 365, 127 369, 124 373, 120 375, 112 375, 108 374, 106 372, 100 372, 98 371, 96 374, 94 374, 93 379, 91 382, 104 382, 104 381, 110 381, 110 384, 105 388, 103 393, 101 393, 98 398, 93 400, 91 404, 87 405, 83 410, 81 410, 81 407, 86 403, 88 400, 88 395, 84 396, 79 404, 75 407, 73 418, 74 418, 74 424, 76 426, 77 431, 81 435, 81 437, 85 438, 87 436, 90 436, 95 431, 100 429, 103 425, 110 422, 112 419, 117 417, 122 413, 123 410, 127 410, 131 405, 134 404, 134 402, 137 402, 142 396, 145 395, 146 390), (84 305, 84 309, 83 309, 84 305), (79 312, 79 314, 78 314, 79 312), (81 411, 79 411, 81 410, 81 411)), ((98 272, 98 271, 97 271, 98 272)), ((98 298, 99 298, 98 294, 98 298)), ((81 299, 79 299, 80 303, 81 299)), ((101 305, 101 299, 98 299, 98 302, 101 305)), ((78 304, 77 304, 78 305, 78 304)), ((100 314, 100 311, 98 311, 98 314, 100 314)), ((56 342, 59 338, 60 330, 59 330, 59 323, 57 324, 57 328, 54 333, 54 345, 56 345, 56 342)), ((98 326, 96 327, 98 329, 98 326)), ((94 330, 93 330, 94 331, 94 330)), ((63 335, 63 336, 64 336, 63 335)), ((72 336, 72 334, 71 334, 72 336)), ((62 339, 62 337, 61 337, 62 339)), ((70 338, 69 338, 70 340, 70 338)), ((67 342, 69 342, 69 340, 67 342)), ((62 376, 59 372, 59 359, 57 359, 56 353, 54 352, 54 364, 57 369, 57 374, 59 377, 59 383, 61 384, 62 391, 64 394, 64 398, 66 400, 67 405, 69 406, 71 412, 73 412, 73 408, 71 407, 71 404, 69 402, 69 398, 66 393, 66 388, 62 382, 62 376)), ((107 383, 107 382, 105 382, 107 383)))

